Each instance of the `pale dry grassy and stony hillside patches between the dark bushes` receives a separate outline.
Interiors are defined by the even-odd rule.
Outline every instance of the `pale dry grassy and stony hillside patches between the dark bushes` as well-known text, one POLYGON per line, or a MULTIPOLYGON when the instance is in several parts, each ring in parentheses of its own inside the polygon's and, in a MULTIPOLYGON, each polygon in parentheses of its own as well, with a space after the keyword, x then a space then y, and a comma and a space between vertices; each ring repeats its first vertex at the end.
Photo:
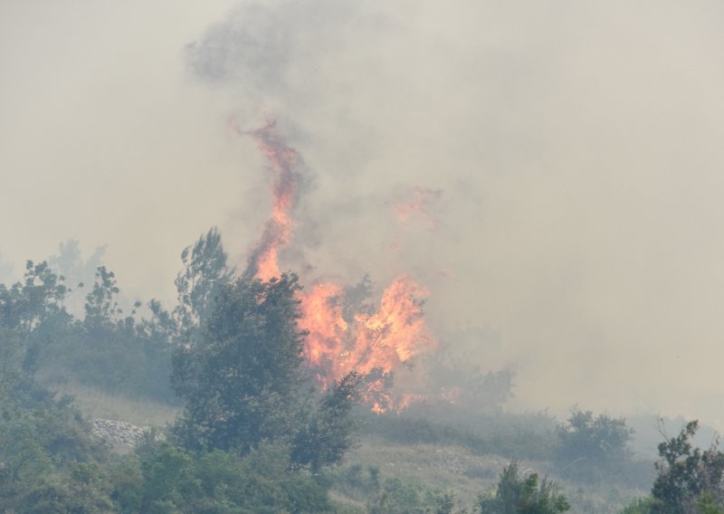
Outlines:
MULTIPOLYGON (((122 420, 163 429, 178 413, 178 409, 170 405, 110 395, 87 386, 66 385, 62 391, 74 395, 90 419, 122 420)), ((503 430, 502 425, 510 423, 511 434, 521 433, 525 421, 540 426, 539 416, 502 415, 496 430, 503 430)), ((501 444, 500 434, 497 437, 492 437, 490 432, 489 437, 476 435, 486 432, 483 426, 476 432, 470 426, 434 424, 397 414, 385 418, 358 413, 357 422, 360 430, 357 445, 342 464, 325 472, 330 497, 341 512, 367 512, 380 498, 381 491, 395 498, 400 504, 395 509, 401 509, 400 512, 424 506, 446 493, 452 494, 457 508, 471 509, 481 494, 495 490, 500 472, 514 457, 520 458, 522 471, 534 471, 556 481, 571 503, 570 512, 581 514, 619 512, 634 498, 648 495, 646 484, 652 483, 654 477, 653 462, 634 461, 636 480, 626 483, 609 476, 600 483, 582 484, 560 476, 555 464, 542 458, 545 449, 523 444, 515 448, 525 441, 523 438, 516 441, 511 436, 507 444, 501 444), (496 443, 500 443, 497 448, 496 443), (525 458, 531 453, 538 455, 525 458)), ((545 428, 548 430, 550 426, 545 428)), ((528 433, 528 437, 536 438, 534 433, 528 433)), ((538 443, 543 444, 545 437, 538 433, 538 443)), ((117 446, 115 451, 126 453, 129 448, 117 446)))

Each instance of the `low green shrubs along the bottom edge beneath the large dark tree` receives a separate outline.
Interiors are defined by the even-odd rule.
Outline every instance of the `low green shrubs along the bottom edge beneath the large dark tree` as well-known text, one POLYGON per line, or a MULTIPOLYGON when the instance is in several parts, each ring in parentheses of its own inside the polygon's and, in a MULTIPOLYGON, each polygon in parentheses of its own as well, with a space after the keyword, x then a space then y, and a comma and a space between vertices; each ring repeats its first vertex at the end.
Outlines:
POLYGON ((327 490, 289 471, 289 449, 262 445, 244 458, 148 441, 110 472, 120 512, 322 513, 327 490))

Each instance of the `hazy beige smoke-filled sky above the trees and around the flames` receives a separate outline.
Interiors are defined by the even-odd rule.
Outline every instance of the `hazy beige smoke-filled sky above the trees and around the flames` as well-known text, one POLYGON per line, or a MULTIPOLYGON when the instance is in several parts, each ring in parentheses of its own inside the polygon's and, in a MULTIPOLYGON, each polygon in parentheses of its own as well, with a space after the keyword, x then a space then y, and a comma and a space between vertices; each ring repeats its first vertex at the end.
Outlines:
POLYGON ((713 0, 5 0, 0 279, 75 238, 170 301, 214 224, 243 267, 270 200, 238 132, 274 118, 305 162, 290 265, 413 273, 445 344, 517 371, 515 408, 722 425, 722 22, 713 0))

